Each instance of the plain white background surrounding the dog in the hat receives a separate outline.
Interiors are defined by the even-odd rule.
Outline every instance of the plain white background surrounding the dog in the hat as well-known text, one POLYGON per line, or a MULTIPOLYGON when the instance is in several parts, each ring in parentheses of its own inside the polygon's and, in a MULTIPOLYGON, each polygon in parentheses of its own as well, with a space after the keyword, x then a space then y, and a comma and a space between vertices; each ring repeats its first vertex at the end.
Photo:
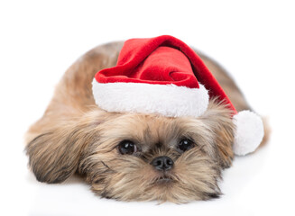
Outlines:
POLYGON ((1 1, 1 215, 295 215, 292 1, 1 1), (215 201, 100 199, 82 180, 41 184, 23 133, 41 117, 63 72, 98 44, 171 34, 217 59, 254 109, 269 116, 265 148, 236 157, 215 201))

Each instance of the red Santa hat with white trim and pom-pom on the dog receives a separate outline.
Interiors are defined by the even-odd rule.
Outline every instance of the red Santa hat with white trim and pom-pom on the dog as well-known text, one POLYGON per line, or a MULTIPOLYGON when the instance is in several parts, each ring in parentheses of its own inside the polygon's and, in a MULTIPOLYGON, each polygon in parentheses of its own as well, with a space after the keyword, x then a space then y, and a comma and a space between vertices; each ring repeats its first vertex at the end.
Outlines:
POLYGON ((97 105, 107 112, 198 117, 207 111, 209 98, 217 97, 234 113, 236 155, 253 152, 263 139, 261 118, 236 112, 201 58, 168 35, 126 40, 116 66, 98 71, 92 85, 97 105))

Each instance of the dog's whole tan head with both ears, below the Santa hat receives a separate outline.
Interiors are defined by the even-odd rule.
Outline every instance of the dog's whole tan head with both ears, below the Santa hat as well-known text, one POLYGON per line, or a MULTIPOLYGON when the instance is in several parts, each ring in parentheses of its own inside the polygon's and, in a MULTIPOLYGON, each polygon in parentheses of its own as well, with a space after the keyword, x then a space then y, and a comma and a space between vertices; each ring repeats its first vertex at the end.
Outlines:
POLYGON ((39 180, 60 182, 78 171, 95 193, 124 201, 189 202, 220 194, 217 181, 231 164, 234 140, 224 105, 211 102, 197 119, 91 112, 81 122, 29 144, 39 180), (61 148, 59 134, 67 137, 61 148), (49 141, 57 147, 38 148, 49 141))

